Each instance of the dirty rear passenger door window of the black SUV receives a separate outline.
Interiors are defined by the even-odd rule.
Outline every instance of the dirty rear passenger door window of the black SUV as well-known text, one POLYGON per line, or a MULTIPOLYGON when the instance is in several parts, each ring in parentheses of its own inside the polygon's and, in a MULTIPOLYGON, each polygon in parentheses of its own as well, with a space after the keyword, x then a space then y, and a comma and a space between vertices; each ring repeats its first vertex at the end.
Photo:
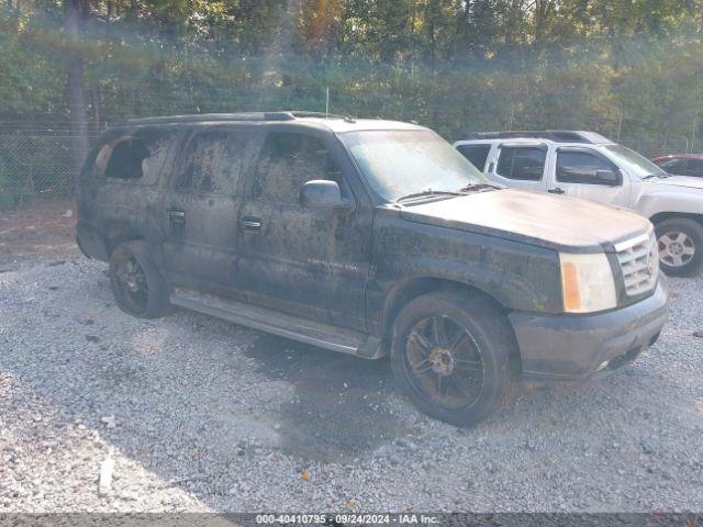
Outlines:
POLYGON ((242 180, 247 136, 241 132, 200 132, 188 142, 176 189, 234 194, 242 180))

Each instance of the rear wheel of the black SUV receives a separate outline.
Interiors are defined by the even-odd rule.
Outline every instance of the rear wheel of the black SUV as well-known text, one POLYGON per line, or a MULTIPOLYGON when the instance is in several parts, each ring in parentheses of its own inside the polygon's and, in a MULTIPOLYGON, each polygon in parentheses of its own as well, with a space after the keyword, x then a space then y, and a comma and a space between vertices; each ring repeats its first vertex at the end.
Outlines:
POLYGON ((130 315, 156 318, 170 310, 169 287, 142 240, 125 242, 112 251, 110 284, 118 306, 130 315))

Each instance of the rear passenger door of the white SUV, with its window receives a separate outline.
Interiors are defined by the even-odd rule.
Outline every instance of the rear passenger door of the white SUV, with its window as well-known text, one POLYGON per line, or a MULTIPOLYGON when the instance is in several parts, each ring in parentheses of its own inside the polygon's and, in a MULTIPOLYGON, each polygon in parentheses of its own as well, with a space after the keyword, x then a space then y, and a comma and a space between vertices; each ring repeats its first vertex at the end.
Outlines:
POLYGON ((547 150, 545 143, 500 143, 489 158, 488 176, 506 187, 544 192, 547 150))

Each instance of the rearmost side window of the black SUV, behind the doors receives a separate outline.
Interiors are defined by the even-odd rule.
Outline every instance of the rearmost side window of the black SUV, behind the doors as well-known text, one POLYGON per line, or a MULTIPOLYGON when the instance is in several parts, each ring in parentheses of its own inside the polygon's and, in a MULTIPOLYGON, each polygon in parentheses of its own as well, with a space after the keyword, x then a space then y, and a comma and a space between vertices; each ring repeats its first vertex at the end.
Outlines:
POLYGON ((171 133, 157 131, 118 137, 100 149, 96 167, 105 178, 154 183, 172 138, 171 133))

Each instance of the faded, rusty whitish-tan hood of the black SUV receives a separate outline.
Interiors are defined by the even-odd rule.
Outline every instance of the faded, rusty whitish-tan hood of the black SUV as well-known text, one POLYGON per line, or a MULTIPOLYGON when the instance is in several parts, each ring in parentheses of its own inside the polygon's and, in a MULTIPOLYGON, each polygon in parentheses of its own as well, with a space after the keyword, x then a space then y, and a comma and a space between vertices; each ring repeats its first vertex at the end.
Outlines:
POLYGON ((584 200, 515 189, 404 204, 411 222, 501 236, 557 250, 613 250, 612 244, 647 233, 633 212, 584 200))

